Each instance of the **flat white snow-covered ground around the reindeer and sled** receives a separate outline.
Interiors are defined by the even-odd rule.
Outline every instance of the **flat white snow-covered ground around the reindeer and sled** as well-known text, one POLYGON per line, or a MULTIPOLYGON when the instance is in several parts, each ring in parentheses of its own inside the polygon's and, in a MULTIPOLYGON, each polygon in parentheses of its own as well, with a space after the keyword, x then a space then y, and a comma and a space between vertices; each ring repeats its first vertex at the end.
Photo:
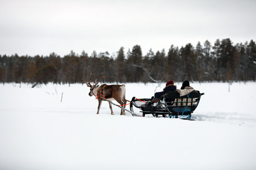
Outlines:
MULTIPOLYGON (((131 100, 157 84, 125 86, 131 100)), ((113 116, 107 102, 96 115, 80 84, 0 84, 0 170, 255 170, 256 83, 191 86, 205 93, 198 121, 120 116, 114 106, 113 116)))

